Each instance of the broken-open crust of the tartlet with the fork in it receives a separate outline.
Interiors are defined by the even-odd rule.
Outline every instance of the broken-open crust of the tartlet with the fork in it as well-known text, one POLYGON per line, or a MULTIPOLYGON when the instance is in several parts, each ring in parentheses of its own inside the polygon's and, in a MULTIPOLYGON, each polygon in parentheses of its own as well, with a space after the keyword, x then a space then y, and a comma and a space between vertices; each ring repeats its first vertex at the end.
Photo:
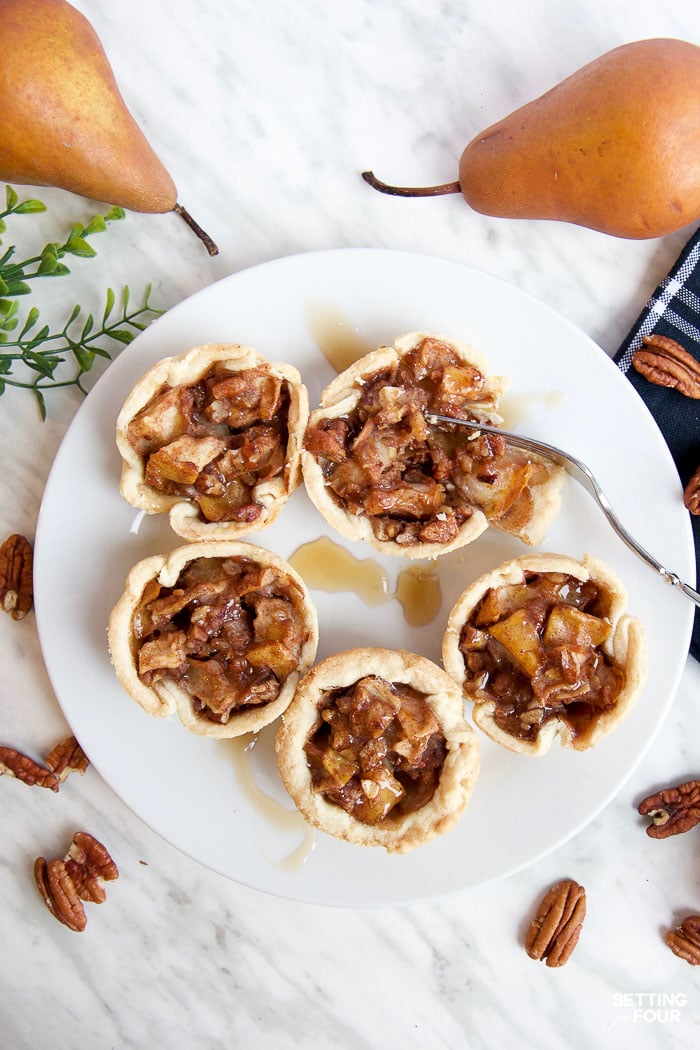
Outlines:
MULTIPOLYGON (((380 346, 365 355, 337 376, 323 392, 319 407, 312 412, 307 435, 314 428, 322 426, 324 421, 342 420, 353 414, 360 403, 367 379, 396 368, 407 355, 420 349, 424 340, 434 340, 444 344, 460 362, 482 373, 485 377, 483 395, 469 402, 468 412, 472 418, 495 425, 502 424, 503 419, 497 412, 497 404, 508 385, 508 380, 502 376, 489 376, 486 360, 473 346, 441 335, 411 332, 398 338, 393 346, 380 346)), ((422 536, 420 540, 415 538, 408 540, 407 533, 398 538, 386 538, 378 534, 376 520, 373 525, 373 518, 368 513, 355 512, 354 508, 347 507, 336 498, 328 485, 326 465, 321 456, 305 447, 301 452, 301 465, 306 491, 328 524, 345 539, 362 541, 384 554, 410 559, 437 558, 471 543, 489 526, 488 511, 484 512, 480 507, 478 497, 476 501, 465 498, 462 502, 468 508, 469 516, 459 522, 447 540, 444 537, 436 540, 429 536, 422 536)), ((529 485, 526 494, 527 505, 525 501, 517 502, 512 513, 504 514, 501 521, 492 520, 492 524, 518 537, 525 543, 538 544, 559 509, 559 489, 565 477, 565 471, 560 468, 547 467, 543 479, 535 480, 529 485)), ((381 487, 380 484, 379 488, 381 487)), ((480 483, 475 482, 474 487, 480 488, 480 483)), ((481 488, 484 490, 483 495, 490 495, 488 484, 481 485, 481 488)), ((451 513, 447 505, 444 509, 448 516, 451 513)), ((439 522, 444 518, 443 510, 434 516, 436 530, 440 530, 439 522)), ((427 531, 430 532, 429 529, 427 531)))

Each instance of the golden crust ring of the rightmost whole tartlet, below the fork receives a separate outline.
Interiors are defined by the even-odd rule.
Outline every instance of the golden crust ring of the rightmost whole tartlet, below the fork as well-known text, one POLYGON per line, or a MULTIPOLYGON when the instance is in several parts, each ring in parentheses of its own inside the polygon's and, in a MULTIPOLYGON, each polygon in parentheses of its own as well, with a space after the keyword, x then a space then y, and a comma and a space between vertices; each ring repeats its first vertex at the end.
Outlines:
POLYGON ((454 604, 443 636, 443 666, 460 686, 466 699, 473 704, 474 722, 496 743, 527 755, 543 755, 558 738, 565 748, 584 751, 611 733, 629 714, 646 680, 646 642, 642 624, 628 615, 627 591, 613 570, 590 554, 579 562, 563 554, 526 554, 504 562, 491 572, 474 581, 454 604), (533 739, 523 739, 506 731, 496 720, 497 704, 488 689, 479 689, 467 681, 465 660, 460 649, 462 631, 482 598, 492 588, 517 585, 526 573, 560 573, 584 583, 595 584, 607 605, 606 620, 610 623, 608 638, 599 646, 613 666, 622 673, 622 687, 614 705, 595 711, 584 731, 559 717, 546 720, 533 739))

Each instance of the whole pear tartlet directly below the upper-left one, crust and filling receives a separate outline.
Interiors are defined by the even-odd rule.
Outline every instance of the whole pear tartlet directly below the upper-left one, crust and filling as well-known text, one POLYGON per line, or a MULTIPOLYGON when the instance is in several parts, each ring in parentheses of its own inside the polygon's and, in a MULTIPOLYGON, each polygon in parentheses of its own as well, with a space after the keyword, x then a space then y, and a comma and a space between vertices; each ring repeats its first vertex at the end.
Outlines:
POLYGON ((116 676, 149 715, 199 736, 256 732, 287 708, 316 657, 305 584, 254 544, 187 544, 144 559, 112 609, 116 676))

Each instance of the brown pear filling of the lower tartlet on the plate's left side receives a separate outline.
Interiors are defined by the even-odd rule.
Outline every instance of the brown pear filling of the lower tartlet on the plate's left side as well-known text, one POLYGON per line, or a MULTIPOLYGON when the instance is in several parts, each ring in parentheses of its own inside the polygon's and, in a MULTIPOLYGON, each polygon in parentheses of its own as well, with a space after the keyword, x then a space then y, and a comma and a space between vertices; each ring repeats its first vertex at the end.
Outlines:
POLYGON ((246 558, 189 562, 173 587, 150 581, 132 616, 139 677, 171 681, 193 709, 226 723, 275 700, 306 640, 303 595, 287 575, 246 558))

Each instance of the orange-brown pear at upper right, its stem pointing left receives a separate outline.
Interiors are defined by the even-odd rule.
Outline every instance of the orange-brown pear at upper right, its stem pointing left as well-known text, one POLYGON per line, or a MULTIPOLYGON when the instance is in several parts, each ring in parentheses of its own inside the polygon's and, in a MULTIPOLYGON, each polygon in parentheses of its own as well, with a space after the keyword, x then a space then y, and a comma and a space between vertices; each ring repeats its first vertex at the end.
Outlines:
POLYGON ((461 192, 486 215, 548 218, 617 237, 658 237, 700 217, 700 47, 623 44, 468 143, 459 182, 401 196, 461 192))

